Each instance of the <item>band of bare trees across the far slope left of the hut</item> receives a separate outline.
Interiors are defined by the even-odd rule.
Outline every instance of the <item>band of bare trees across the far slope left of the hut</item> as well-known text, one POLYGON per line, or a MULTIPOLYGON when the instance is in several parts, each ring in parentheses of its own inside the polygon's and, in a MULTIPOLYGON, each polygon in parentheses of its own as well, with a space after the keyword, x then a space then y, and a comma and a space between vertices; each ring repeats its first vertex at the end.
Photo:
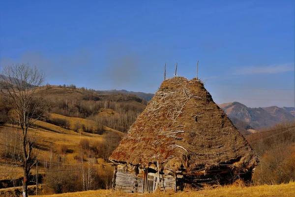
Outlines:
POLYGON ((136 103, 124 103, 110 100, 77 100, 51 98, 53 103, 49 112, 68 117, 78 117, 93 120, 109 128, 126 132, 144 108, 136 103), (112 109, 108 116, 97 116, 102 110, 112 109))

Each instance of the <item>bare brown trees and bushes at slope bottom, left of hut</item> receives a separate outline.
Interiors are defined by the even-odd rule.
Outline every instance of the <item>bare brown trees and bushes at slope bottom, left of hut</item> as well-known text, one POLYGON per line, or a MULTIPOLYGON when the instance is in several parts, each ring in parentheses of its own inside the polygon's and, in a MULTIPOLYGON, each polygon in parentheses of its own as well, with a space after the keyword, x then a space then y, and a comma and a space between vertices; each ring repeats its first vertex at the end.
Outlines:
MULTIPOLYGON (((97 163, 97 158, 108 158, 118 145, 118 139, 104 142, 89 141, 82 138, 79 143, 79 153, 74 157, 76 164, 66 164, 66 147, 59 147, 55 151, 59 156, 46 162, 45 186, 54 190, 56 194, 65 192, 110 189, 113 170, 97 163), (63 159, 59 159, 60 157, 63 159), (56 158, 56 159, 53 159, 56 158), (55 162, 62 162, 54 166, 55 162)), ((44 163, 45 164, 45 163, 44 163)))

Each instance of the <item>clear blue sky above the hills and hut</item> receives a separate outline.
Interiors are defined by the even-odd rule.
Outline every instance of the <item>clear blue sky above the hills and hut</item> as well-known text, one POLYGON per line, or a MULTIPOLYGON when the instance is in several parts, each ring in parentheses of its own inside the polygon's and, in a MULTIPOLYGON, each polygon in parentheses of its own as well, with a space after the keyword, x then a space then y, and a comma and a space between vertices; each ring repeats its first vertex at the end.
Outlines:
POLYGON ((50 84, 154 93, 164 65, 217 103, 294 106, 294 0, 2 1, 0 66, 50 84))

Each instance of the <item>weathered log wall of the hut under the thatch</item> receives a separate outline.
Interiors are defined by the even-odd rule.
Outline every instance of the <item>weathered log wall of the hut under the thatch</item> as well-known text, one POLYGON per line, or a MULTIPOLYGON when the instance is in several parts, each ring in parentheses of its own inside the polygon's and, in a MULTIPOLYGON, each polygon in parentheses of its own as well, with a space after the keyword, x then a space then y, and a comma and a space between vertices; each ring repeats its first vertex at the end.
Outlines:
MULTIPOLYGON (((186 185, 202 187, 204 184, 230 184, 239 178, 239 175, 240 172, 236 174, 229 167, 197 170, 192 173, 186 173, 183 170, 176 172, 163 170, 159 174, 160 191, 179 191, 183 190, 186 185)), ((158 173, 153 168, 143 169, 137 166, 118 164, 115 167, 113 181, 115 180, 115 190, 127 193, 152 193, 155 190, 157 179, 158 173)))

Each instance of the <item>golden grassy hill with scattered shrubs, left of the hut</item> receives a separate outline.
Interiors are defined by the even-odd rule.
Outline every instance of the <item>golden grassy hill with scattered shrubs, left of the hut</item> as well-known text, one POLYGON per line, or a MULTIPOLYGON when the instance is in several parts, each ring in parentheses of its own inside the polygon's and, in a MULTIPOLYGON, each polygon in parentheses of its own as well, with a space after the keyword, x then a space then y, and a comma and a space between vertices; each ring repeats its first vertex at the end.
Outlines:
MULTIPOLYGON (((91 120, 82 118, 71 118, 59 114, 50 114, 48 122, 36 121, 31 129, 29 129, 29 136, 36 140, 34 153, 38 155, 41 169, 38 170, 39 176, 42 177, 50 169, 60 169, 63 166, 77 166, 81 162, 81 150, 87 149, 91 152, 91 160, 93 167, 96 169, 113 170, 111 165, 104 160, 107 159, 112 151, 118 146, 118 142, 124 133, 113 130, 106 126, 99 126, 91 120), (50 122, 53 119, 65 120, 69 123, 69 128, 58 126, 50 122), (75 126, 76 122, 84 124, 85 127, 90 127, 92 124, 93 131, 85 132, 81 129, 73 131, 71 128, 75 126), (97 134, 97 130, 101 130, 97 134)), ((22 178, 23 171, 21 166, 13 168, 14 164, 18 164, 15 157, 19 154, 19 132, 20 128, 10 124, 0 126, 0 189, 6 187, 13 187, 21 185, 21 181, 15 181, 22 178), (10 171, 10 173, 9 173, 10 171), (6 181, 8 180, 8 181, 6 181)), ((90 161, 86 156, 85 161, 90 161)), ((35 167, 34 167, 35 168, 35 167)), ((32 176, 35 174, 35 169, 31 171, 32 176)))

